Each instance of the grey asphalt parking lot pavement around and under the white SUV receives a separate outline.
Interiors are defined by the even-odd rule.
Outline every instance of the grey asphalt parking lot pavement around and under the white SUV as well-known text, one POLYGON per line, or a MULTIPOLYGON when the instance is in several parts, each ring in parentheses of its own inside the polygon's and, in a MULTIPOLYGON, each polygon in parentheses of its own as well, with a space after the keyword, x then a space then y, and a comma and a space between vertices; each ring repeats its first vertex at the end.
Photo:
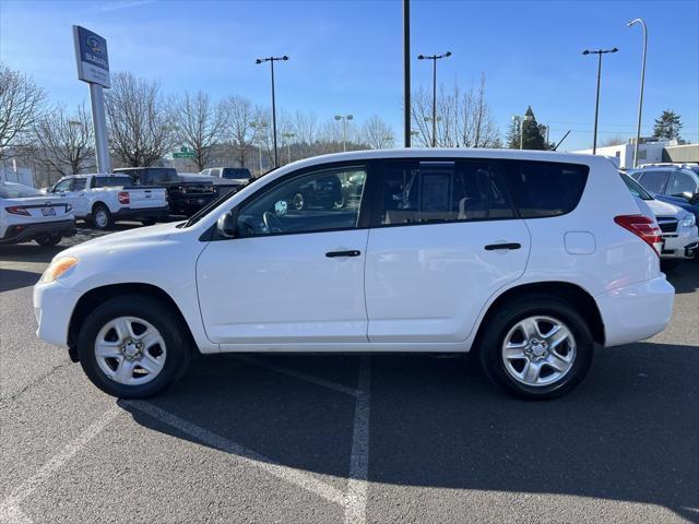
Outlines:
POLYGON ((0 247, 0 523, 699 522, 697 262, 553 402, 417 355, 199 358, 125 402, 35 335, 32 286, 96 235, 0 247))

